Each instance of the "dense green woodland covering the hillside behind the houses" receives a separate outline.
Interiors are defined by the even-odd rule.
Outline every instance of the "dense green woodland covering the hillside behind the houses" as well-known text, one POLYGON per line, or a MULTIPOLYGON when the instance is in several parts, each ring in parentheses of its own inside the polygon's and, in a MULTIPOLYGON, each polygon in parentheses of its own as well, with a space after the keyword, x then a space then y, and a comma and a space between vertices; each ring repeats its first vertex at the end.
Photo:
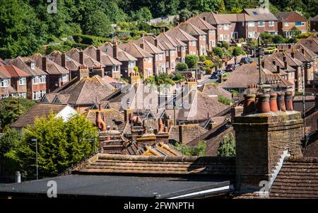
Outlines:
MULTIPOLYGON (((47 13, 43 0, 0 0, 0 57, 29 55, 42 45, 73 34, 107 38, 112 23, 122 25, 160 16, 190 16, 201 11, 240 13, 264 0, 59 0, 57 13, 47 13)), ((318 13, 317 0, 272 0, 270 9, 299 11, 311 17, 318 13)))

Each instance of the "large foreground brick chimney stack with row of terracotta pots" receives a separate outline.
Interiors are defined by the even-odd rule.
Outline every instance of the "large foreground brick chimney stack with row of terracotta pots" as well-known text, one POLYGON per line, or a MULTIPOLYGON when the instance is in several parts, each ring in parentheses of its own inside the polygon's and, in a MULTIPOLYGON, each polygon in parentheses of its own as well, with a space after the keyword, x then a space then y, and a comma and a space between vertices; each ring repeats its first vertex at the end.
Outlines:
POLYGON ((302 157, 303 120, 300 112, 293 111, 292 93, 269 91, 259 90, 257 103, 254 103, 257 112, 237 113, 232 118, 236 144, 235 190, 238 192, 257 192, 264 187, 263 180, 271 186, 276 163, 286 151, 294 157, 302 157), (284 94, 287 98, 283 98, 284 94), (286 112, 279 108, 278 100, 288 105, 286 112))

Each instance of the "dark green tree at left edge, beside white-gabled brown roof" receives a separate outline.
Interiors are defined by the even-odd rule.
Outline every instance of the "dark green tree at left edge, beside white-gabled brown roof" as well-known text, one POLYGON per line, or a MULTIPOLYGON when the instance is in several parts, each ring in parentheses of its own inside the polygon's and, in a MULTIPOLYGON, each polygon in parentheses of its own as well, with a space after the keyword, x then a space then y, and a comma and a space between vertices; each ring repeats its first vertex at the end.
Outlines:
POLYGON ((35 102, 25 98, 8 97, 0 100, 0 127, 11 125, 30 109, 35 102))

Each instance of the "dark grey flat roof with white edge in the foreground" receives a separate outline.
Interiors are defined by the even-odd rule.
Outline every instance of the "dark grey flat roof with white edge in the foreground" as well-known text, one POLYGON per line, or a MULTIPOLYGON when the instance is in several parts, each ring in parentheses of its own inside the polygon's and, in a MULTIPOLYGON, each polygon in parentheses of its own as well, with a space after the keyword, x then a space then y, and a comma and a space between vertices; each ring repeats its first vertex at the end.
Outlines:
POLYGON ((0 197, 46 196, 49 180, 57 182, 57 197, 200 197, 230 191, 228 177, 146 177, 127 175, 65 175, 22 183, 0 184, 0 197))

